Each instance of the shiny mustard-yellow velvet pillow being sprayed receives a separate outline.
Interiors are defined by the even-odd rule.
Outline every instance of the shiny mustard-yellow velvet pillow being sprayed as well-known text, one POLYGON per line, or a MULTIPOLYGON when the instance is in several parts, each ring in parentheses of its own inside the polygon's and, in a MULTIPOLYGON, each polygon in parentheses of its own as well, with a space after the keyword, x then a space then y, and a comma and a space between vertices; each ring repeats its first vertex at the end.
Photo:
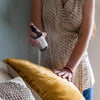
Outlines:
POLYGON ((43 100, 85 100, 79 90, 50 69, 27 60, 7 58, 9 64, 43 100))

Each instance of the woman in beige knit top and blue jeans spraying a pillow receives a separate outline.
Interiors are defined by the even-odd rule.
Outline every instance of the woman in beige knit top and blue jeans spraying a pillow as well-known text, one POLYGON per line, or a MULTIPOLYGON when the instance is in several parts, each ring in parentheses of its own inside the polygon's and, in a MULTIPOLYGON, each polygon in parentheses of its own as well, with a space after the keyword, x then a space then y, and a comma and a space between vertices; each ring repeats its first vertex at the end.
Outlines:
MULTIPOLYGON (((39 53, 39 64, 73 82, 86 100, 93 100, 94 74, 88 57, 93 33, 95 0, 32 0, 31 22, 48 42, 39 53)), ((29 40, 38 48, 37 35, 29 40)))

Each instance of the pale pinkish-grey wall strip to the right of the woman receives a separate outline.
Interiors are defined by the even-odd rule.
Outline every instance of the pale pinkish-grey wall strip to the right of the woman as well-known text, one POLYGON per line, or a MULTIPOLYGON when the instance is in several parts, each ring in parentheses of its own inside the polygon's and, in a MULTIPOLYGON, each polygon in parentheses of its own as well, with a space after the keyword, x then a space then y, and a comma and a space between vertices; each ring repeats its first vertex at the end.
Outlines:
POLYGON ((100 99, 100 1, 96 1, 97 33, 94 40, 90 41, 89 57, 95 74, 94 100, 100 99))

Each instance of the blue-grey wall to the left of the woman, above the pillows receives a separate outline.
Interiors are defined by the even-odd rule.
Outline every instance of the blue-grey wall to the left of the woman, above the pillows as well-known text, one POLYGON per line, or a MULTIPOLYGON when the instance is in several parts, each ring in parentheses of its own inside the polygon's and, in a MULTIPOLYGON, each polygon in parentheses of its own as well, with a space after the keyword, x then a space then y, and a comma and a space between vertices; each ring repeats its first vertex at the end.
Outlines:
POLYGON ((0 0, 0 60, 32 59, 28 41, 30 6, 31 0, 0 0))

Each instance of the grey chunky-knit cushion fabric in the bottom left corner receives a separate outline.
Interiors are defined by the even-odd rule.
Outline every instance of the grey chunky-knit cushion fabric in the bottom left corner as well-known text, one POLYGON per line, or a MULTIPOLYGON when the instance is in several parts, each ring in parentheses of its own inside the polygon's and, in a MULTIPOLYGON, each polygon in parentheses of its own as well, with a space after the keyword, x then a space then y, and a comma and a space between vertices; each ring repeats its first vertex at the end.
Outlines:
POLYGON ((0 100, 35 100, 30 90, 16 82, 0 83, 0 100))

